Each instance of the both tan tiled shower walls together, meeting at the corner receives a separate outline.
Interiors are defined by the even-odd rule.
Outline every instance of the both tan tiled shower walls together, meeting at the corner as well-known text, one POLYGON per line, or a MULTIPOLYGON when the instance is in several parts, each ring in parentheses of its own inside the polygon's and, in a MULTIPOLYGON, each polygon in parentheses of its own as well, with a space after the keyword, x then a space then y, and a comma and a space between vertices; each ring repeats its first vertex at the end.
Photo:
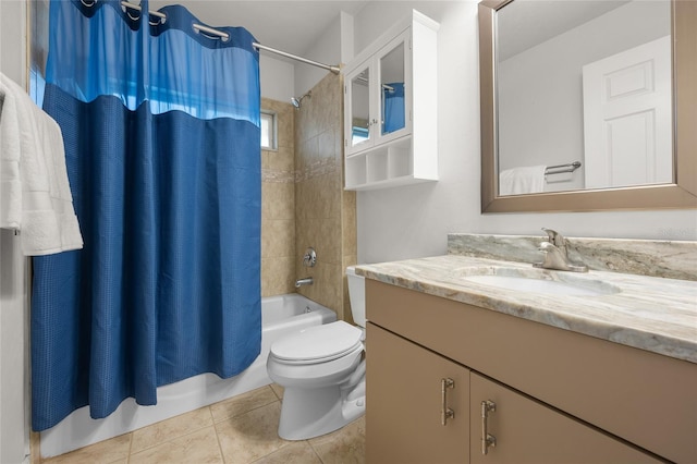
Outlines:
POLYGON ((327 75, 291 103, 264 98, 278 114, 279 150, 262 150, 261 296, 298 292, 351 318, 345 268, 356 264, 356 195, 343 190, 343 81, 327 75), (314 268, 303 266, 307 247, 314 268), (298 278, 313 285, 299 290, 298 278))

